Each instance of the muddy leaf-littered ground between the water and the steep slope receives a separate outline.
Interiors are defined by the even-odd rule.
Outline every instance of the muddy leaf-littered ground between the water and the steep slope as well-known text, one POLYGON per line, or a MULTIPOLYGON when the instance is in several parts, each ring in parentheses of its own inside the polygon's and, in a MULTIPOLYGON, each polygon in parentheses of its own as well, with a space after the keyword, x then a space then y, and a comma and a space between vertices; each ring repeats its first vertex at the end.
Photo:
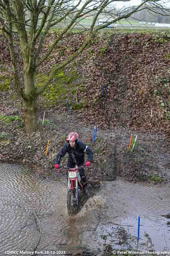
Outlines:
MULTIPOLYGON (((131 133, 128 130, 98 128, 96 142, 93 143, 94 126, 80 122, 76 113, 48 118, 50 123, 40 124, 38 131, 32 134, 25 134, 24 127, 15 129, 18 121, 1 127, 0 132, 4 132, 5 137, 0 143, 0 161, 30 164, 40 175, 55 173, 56 154, 66 142, 66 135, 77 131, 80 140, 94 152, 93 163, 86 169, 91 183, 114 180, 117 176, 134 182, 167 183, 170 180, 170 141, 165 135, 134 133, 134 137, 138 135, 137 145, 134 151, 129 151, 131 133), (48 139, 50 144, 46 156, 48 139)), ((57 172, 66 173, 66 164, 67 155, 62 158, 61 169, 57 172)))

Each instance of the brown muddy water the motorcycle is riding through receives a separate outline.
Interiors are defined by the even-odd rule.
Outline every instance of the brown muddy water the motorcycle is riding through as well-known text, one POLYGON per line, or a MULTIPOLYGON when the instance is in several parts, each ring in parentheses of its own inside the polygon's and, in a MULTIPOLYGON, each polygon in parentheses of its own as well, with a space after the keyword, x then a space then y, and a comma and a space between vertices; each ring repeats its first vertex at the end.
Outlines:
POLYGON ((168 185, 122 180, 103 183, 100 191, 84 200, 81 212, 69 217, 64 177, 53 174, 40 180, 29 167, 17 164, 0 164, 0 170, 0 255, 7 250, 33 250, 40 233, 39 222, 33 215, 36 212, 41 223, 37 250, 49 251, 49 255, 51 251, 77 253, 85 249, 100 255, 103 244, 109 242, 113 248, 129 248, 128 243, 117 237, 120 228, 131 235, 133 248, 170 248, 168 219, 161 216, 170 212, 168 185), (141 239, 137 243, 138 215, 141 239))

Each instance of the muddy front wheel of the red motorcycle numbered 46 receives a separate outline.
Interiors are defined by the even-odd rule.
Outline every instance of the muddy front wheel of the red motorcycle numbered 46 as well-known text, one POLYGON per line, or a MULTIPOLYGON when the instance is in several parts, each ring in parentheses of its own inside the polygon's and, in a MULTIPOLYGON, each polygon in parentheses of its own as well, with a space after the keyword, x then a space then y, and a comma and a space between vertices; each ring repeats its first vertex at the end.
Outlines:
MULTIPOLYGON (((79 202, 79 200, 78 200, 79 202)), ((67 192, 67 210, 69 215, 78 213, 79 205, 76 204, 76 189, 67 192)))

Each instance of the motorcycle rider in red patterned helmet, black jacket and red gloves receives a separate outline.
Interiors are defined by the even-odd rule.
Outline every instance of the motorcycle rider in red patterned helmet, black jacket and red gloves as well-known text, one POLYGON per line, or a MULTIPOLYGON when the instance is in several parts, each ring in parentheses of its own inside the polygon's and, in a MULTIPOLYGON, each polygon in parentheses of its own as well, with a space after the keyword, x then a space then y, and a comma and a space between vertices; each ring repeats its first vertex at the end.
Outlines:
MULTIPOLYGON (((85 143, 82 143, 79 139, 77 132, 70 132, 67 136, 67 143, 63 146, 61 151, 56 156, 55 168, 59 168, 60 159, 65 156, 66 153, 69 154, 68 164, 69 168, 74 168, 75 164, 79 166, 85 163, 85 153, 88 155, 88 160, 86 162, 86 167, 89 167, 92 163, 93 152, 85 143)), ((87 179, 85 176, 85 169, 82 167, 79 170, 80 177, 84 186, 85 194, 89 196, 87 189, 87 179)))

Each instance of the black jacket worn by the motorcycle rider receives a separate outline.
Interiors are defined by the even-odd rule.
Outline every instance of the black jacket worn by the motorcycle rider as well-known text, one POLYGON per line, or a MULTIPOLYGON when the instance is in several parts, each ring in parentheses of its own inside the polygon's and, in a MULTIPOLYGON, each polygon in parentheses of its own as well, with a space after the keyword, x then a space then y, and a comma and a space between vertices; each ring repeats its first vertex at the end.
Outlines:
POLYGON ((76 148, 71 148, 70 143, 67 142, 61 151, 56 156, 56 161, 54 164, 60 164, 60 159, 62 156, 65 156, 65 154, 69 154, 69 158, 71 157, 73 162, 76 164, 82 164, 84 162, 84 156, 85 153, 88 155, 88 160, 92 163, 93 159, 93 152, 92 149, 90 149, 85 143, 82 143, 80 140, 78 140, 78 143, 76 144, 76 148))

